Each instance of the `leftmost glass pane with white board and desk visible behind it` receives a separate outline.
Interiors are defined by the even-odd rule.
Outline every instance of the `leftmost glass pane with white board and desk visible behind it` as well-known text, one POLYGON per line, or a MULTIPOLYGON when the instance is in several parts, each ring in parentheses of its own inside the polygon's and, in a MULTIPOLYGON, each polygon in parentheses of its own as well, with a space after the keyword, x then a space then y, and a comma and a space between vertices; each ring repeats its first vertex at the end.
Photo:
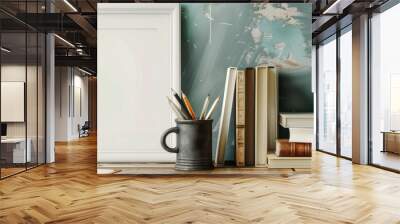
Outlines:
POLYGON ((1 34, 1 175, 25 170, 26 151, 26 34, 1 34))

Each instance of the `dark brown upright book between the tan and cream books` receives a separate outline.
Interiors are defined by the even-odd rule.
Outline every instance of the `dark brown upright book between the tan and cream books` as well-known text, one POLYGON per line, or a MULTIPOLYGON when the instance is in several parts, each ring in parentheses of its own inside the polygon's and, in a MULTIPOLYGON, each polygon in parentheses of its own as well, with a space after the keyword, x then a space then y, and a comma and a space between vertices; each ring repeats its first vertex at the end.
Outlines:
POLYGON ((245 71, 245 164, 254 166, 255 161, 255 69, 245 71))

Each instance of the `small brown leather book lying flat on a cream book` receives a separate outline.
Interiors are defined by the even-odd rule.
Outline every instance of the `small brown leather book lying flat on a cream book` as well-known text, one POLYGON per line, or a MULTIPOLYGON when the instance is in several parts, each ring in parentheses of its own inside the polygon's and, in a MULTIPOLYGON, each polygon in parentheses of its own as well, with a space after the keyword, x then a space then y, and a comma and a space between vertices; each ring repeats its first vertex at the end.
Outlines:
POLYGON ((289 142, 289 139, 276 140, 275 154, 279 157, 311 157, 311 143, 289 142))

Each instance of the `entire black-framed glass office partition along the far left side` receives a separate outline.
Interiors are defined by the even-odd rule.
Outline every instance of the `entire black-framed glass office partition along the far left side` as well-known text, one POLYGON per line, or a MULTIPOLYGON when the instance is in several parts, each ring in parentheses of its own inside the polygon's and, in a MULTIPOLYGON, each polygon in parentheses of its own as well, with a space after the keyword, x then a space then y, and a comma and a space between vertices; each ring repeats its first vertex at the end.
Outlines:
MULTIPOLYGON (((42 12, 43 4, 21 1, 18 13, 42 12)), ((43 164, 46 156, 45 34, 13 21, 0 12, 0 178, 43 164)))

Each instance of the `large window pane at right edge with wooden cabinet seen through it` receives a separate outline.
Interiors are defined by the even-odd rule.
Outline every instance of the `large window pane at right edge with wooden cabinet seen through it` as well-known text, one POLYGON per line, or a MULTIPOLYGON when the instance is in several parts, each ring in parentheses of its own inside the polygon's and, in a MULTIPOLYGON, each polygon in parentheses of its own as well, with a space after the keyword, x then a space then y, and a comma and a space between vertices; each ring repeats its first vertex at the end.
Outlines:
POLYGON ((400 4, 372 17, 372 163, 400 170, 400 4))

